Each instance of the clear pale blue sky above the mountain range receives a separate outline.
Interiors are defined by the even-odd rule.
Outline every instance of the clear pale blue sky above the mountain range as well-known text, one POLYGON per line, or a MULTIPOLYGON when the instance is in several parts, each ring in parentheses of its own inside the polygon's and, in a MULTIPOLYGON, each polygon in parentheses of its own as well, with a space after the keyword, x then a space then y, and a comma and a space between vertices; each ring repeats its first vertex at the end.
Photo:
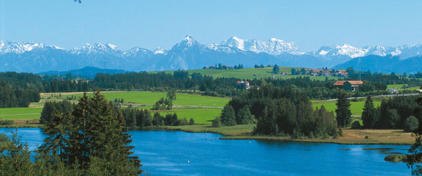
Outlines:
POLYGON ((13 0, 0 2, 0 41, 153 50, 171 49, 191 34, 202 44, 275 37, 300 51, 413 45, 422 44, 421 9, 420 0, 13 0))

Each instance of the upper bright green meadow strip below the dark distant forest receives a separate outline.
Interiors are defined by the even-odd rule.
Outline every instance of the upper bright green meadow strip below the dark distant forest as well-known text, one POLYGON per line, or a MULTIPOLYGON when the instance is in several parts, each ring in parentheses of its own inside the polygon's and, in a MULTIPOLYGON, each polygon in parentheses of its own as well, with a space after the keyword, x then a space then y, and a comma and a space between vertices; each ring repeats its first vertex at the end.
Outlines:
MULTIPOLYGON (((114 99, 123 99, 124 102, 155 104, 161 97, 166 97, 166 92, 101 92, 106 99, 113 101, 114 99)), ((56 94, 57 95, 57 94, 56 94)), ((82 93, 62 94, 65 99, 68 96, 82 96, 82 93)), ((89 95, 92 95, 91 93, 89 95)), ((51 94, 46 94, 46 97, 51 94)), ((229 102, 229 99, 215 97, 215 96, 201 96, 198 94, 176 94, 177 99, 173 101, 174 105, 179 106, 210 106, 222 107, 229 102)))

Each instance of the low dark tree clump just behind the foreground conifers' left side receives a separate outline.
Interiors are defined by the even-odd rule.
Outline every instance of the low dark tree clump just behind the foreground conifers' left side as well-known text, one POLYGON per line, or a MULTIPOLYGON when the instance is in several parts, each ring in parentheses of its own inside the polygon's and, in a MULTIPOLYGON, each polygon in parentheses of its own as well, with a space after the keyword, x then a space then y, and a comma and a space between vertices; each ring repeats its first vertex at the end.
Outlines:
POLYGON ((73 111, 74 105, 70 101, 47 101, 41 111, 41 118, 39 122, 46 124, 53 120, 56 113, 70 113, 73 111))

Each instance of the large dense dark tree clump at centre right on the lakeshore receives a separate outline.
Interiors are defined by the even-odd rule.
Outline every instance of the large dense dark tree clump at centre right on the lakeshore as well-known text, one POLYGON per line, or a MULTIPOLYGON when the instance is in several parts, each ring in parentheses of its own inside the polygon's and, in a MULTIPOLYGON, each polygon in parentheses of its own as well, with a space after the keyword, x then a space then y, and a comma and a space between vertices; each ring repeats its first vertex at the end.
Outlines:
MULTIPOLYGON (((333 113, 312 108, 309 98, 291 87, 267 85, 250 89, 238 96, 222 111, 222 125, 248 124, 257 120, 257 135, 291 135, 292 137, 336 137, 333 113)), ((215 122, 217 123, 217 122, 215 122)))

